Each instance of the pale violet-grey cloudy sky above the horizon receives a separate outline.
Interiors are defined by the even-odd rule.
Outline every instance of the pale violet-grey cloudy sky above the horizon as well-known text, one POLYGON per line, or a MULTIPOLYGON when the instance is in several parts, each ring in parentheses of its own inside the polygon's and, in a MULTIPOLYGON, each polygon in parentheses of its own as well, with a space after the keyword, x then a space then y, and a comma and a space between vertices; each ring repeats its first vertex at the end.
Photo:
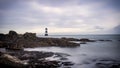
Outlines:
POLYGON ((0 33, 120 34, 120 0, 0 0, 0 33))

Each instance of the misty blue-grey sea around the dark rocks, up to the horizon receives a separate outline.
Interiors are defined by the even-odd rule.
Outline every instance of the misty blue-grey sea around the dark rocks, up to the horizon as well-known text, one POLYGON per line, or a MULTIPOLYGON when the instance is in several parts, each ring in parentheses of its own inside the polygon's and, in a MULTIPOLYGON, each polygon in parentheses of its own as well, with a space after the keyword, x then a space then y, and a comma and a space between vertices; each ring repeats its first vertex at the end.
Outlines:
MULTIPOLYGON (((44 37, 44 36, 39 36, 44 37)), ((120 35, 50 35, 52 38, 87 38, 97 40, 96 42, 87 42, 78 47, 37 47, 25 48, 25 51, 45 51, 54 53, 64 53, 65 56, 74 65, 68 68, 110 68, 112 65, 120 64, 120 35), (111 40, 111 41, 100 41, 111 40)), ((74 41, 80 43, 79 41, 74 41)), ((48 57, 49 60, 60 60, 59 57, 48 57)), ((65 60, 64 60, 65 61, 65 60)), ((67 68, 67 67, 61 67, 67 68)))

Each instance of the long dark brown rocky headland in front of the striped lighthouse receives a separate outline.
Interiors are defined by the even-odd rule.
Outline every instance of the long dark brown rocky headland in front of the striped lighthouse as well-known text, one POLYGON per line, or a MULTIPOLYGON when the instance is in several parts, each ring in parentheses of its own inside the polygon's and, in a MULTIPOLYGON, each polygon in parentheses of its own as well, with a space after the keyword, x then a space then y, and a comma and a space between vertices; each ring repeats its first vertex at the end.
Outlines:
MULTIPOLYGON (((72 40, 72 38, 71 38, 72 40)), ((75 40, 75 39, 74 39, 75 40)), ((0 47, 8 49, 22 49, 24 47, 39 46, 60 46, 60 47, 76 47, 80 44, 70 42, 65 38, 39 38, 36 33, 17 34, 15 31, 9 31, 8 34, 0 34, 0 47)))

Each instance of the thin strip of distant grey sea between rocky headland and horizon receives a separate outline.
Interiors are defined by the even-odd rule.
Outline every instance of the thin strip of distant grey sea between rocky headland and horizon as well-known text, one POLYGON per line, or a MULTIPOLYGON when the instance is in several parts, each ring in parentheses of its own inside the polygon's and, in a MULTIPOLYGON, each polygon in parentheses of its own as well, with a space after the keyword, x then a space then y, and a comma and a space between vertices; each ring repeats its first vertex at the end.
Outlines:
MULTIPOLYGON (((44 37, 44 36, 39 36, 44 37)), ((61 38, 61 37, 67 37, 67 38, 88 38, 88 39, 109 39, 109 40, 120 40, 120 35, 49 35, 48 37, 54 37, 54 38, 61 38)))

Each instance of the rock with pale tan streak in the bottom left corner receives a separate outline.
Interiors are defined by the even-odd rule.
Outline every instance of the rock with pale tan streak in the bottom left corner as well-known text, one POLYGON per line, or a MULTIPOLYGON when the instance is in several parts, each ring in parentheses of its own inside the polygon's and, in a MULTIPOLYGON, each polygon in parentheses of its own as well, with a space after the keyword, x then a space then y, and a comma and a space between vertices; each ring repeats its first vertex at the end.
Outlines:
POLYGON ((11 56, 9 54, 1 53, 0 56, 0 66, 8 66, 11 68, 25 68, 24 62, 20 59, 16 58, 15 56, 11 56))

